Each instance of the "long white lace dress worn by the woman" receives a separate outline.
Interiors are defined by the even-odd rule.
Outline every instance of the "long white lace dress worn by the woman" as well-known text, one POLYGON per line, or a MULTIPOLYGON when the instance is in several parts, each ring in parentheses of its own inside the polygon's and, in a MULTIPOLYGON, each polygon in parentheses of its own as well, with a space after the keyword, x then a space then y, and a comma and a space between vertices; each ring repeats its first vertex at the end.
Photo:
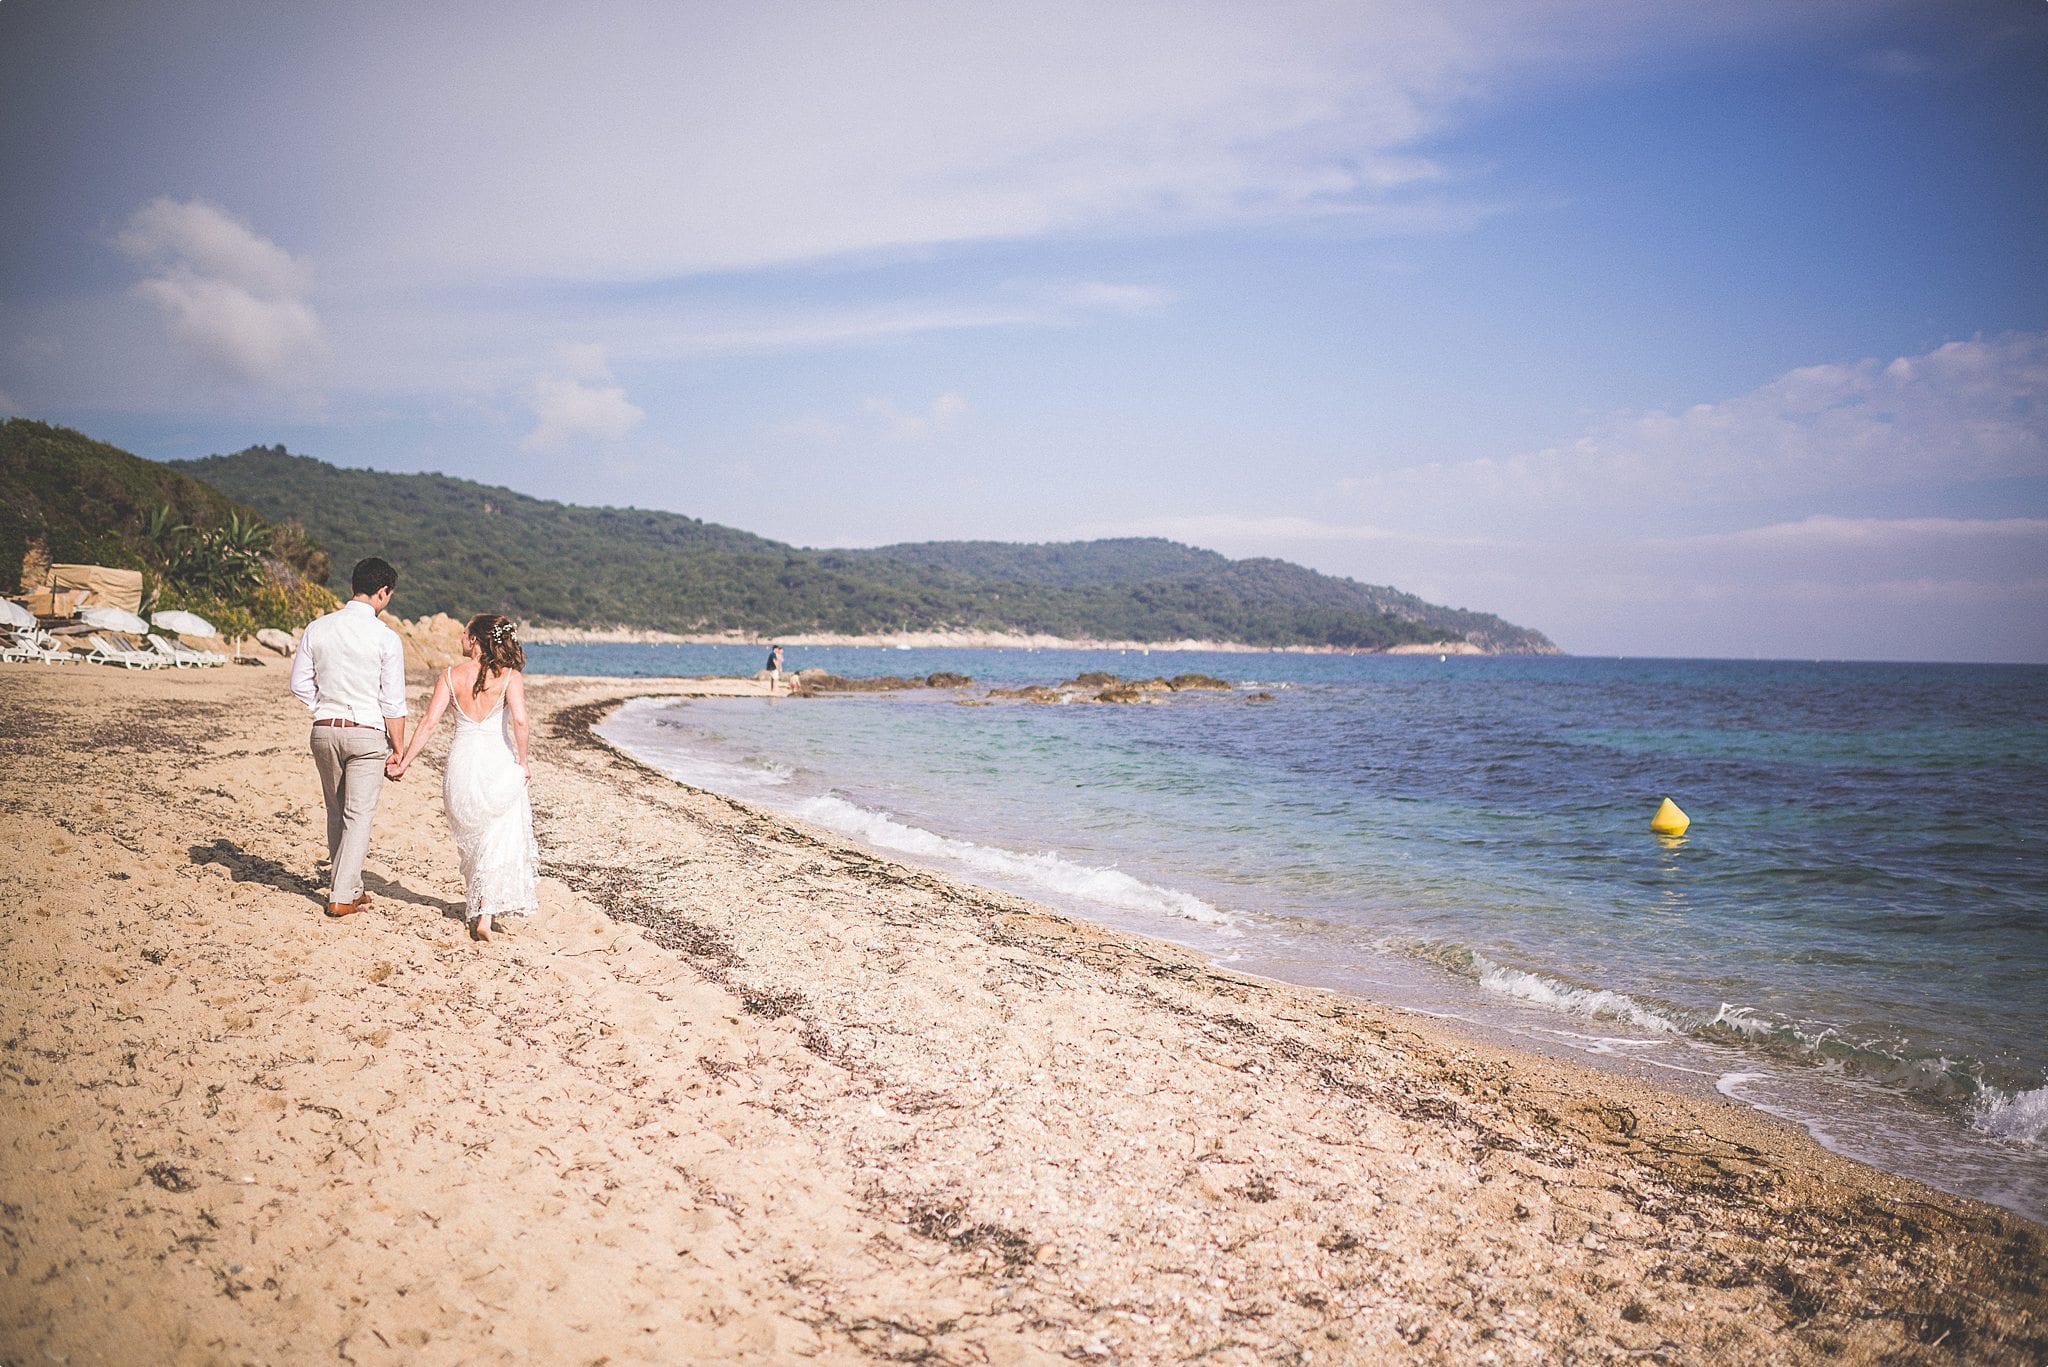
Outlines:
MULTIPOLYGON (((453 680, 449 691, 453 701, 453 680)), ((526 775, 512 754, 504 695, 481 721, 455 707, 455 740, 449 742, 440 799, 463 859, 469 918, 537 912, 541 846, 532 840, 532 803, 526 775)))

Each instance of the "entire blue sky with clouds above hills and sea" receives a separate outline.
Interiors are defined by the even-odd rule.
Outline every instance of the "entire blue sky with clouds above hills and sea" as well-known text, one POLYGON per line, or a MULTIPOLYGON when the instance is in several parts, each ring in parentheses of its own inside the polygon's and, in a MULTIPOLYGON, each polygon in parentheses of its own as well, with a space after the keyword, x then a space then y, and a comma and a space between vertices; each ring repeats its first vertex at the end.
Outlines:
POLYGON ((2048 4, 0 2, 0 410, 2048 660, 2048 4))

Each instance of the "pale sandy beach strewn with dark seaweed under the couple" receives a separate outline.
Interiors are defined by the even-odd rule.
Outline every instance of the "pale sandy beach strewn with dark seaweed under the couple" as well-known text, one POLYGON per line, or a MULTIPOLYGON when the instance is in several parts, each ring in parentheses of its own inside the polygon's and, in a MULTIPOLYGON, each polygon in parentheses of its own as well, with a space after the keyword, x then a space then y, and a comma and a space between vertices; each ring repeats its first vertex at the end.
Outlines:
POLYGON ((0 666, 0 1361, 2048 1357, 2040 1226, 590 736, 686 689, 535 680, 479 947, 436 762, 319 914, 281 662, 0 666))

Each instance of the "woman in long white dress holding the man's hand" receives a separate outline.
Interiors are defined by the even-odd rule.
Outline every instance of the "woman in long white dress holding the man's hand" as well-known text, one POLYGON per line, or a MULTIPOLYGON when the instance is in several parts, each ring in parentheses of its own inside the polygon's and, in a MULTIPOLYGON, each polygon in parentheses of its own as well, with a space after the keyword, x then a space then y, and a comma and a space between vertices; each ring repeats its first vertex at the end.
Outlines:
POLYGON ((492 939, 492 920, 539 910, 541 846, 526 797, 526 652, 512 623, 479 613, 463 629, 465 660, 434 680, 420 730, 391 777, 426 748, 440 713, 455 707, 455 740, 440 781, 449 830, 463 861, 469 937, 492 939))

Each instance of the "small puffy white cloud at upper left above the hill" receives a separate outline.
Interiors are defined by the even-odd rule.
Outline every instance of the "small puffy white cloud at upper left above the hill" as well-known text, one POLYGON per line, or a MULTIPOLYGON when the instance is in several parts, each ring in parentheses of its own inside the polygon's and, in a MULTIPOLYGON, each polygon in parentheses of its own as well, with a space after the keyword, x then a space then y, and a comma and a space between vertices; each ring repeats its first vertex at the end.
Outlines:
POLYGON ((326 355, 305 301, 307 273, 285 248, 205 201, 154 199, 117 238, 147 271, 135 285, 170 334, 219 375, 246 383, 307 379, 326 355))

